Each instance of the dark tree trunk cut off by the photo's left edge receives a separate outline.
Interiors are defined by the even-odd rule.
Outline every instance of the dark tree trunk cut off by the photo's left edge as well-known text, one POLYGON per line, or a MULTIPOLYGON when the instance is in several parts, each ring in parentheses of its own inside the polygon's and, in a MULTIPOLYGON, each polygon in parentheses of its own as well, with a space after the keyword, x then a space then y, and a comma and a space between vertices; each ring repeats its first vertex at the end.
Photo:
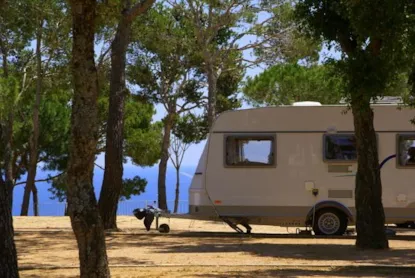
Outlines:
MULTIPOLYGON (((7 49, 0 38, 3 56, 3 76, 8 78, 7 49)), ((2 143, 4 144, 4 168, 6 182, 0 173, 0 277, 19 277, 17 252, 13 229, 13 112, 8 114, 5 124, 0 123, 2 143)))

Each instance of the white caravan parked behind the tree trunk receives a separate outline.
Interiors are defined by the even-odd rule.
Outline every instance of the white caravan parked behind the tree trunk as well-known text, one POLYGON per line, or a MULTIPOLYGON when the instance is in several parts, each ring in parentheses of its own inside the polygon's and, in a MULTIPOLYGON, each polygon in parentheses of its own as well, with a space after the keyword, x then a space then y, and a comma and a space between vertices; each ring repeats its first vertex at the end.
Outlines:
MULTIPOLYGON (((386 223, 415 220, 415 111, 375 104, 386 223)), ((399 107, 399 108, 398 108, 399 107)), ((355 219, 357 155, 345 105, 300 102, 229 111, 213 124, 189 189, 193 218, 311 226, 340 235, 355 219)))

